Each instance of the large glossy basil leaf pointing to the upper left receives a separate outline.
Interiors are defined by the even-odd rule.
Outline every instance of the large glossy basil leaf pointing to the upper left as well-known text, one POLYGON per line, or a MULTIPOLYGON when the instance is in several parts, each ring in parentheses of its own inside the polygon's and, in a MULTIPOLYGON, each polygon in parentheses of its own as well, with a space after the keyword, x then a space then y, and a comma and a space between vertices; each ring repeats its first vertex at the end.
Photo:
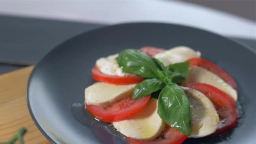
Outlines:
POLYGON ((116 61, 123 72, 144 78, 158 77, 157 71, 159 71, 159 69, 156 64, 150 56, 142 51, 126 49, 119 53, 116 61))

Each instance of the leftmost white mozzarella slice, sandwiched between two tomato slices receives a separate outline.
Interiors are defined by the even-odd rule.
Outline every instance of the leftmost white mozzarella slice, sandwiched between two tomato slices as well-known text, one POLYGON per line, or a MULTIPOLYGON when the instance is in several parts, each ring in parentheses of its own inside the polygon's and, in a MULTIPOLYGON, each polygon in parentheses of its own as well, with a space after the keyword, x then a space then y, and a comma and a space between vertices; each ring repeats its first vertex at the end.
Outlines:
POLYGON ((93 104, 98 106, 106 106, 116 101, 120 101, 133 93, 132 85, 113 85, 109 83, 97 82, 85 88, 85 102, 86 104, 93 104))

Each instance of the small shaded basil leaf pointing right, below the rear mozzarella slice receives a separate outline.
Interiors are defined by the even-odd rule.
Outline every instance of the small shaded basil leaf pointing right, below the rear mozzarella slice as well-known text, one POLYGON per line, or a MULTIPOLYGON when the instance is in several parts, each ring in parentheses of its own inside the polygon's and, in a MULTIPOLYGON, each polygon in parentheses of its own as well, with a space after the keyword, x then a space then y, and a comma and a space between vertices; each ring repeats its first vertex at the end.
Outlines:
POLYGON ((176 64, 170 64, 168 65, 168 70, 171 72, 179 72, 184 75, 184 77, 187 77, 189 73, 189 62, 181 62, 176 64))

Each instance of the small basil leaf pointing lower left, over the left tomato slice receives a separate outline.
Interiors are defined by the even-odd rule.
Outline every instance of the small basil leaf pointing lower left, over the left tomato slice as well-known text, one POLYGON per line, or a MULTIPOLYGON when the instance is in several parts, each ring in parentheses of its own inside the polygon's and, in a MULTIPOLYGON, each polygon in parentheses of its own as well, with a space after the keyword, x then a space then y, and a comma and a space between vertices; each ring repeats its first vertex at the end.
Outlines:
POLYGON ((157 78, 151 78, 143 80, 141 83, 138 83, 133 91, 133 99, 138 99, 142 96, 147 96, 153 92, 156 92, 164 88, 165 83, 158 80, 157 78))

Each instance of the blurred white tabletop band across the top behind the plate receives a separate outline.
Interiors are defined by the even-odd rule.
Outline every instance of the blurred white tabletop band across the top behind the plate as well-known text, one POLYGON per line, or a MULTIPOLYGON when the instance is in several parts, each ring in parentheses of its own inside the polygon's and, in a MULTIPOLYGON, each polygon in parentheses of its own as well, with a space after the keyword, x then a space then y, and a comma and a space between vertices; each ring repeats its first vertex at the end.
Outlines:
POLYGON ((0 14, 116 24, 157 21, 256 39, 256 22, 179 1, 0 1, 0 14))

